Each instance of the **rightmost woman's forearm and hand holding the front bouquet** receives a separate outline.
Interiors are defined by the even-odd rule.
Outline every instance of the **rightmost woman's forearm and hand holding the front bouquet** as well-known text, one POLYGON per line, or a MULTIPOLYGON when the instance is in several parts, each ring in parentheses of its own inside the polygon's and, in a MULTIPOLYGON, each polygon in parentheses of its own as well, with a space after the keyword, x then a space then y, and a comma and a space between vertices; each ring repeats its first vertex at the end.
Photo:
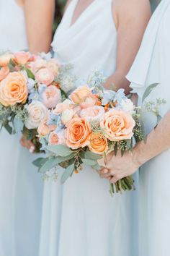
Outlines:
MULTIPOLYGON (((117 182, 125 176, 133 174, 143 163, 170 148, 170 111, 159 122, 158 126, 148 135, 146 143, 138 142, 133 152, 123 157, 109 154, 106 168, 102 168, 101 176, 117 182), (114 177, 112 177, 114 176, 114 177)), ((170 155, 169 155, 170 157, 170 155)), ((102 166, 104 163, 99 162, 102 166)))

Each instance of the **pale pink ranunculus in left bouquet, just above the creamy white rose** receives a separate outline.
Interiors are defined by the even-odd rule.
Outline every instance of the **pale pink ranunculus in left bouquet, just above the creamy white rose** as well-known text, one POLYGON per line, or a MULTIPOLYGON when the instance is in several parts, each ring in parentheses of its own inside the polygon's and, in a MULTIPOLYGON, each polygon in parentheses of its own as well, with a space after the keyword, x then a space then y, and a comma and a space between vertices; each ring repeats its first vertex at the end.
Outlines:
POLYGON ((61 90, 55 85, 50 85, 42 93, 42 102, 47 108, 55 108, 58 103, 61 103, 61 90))

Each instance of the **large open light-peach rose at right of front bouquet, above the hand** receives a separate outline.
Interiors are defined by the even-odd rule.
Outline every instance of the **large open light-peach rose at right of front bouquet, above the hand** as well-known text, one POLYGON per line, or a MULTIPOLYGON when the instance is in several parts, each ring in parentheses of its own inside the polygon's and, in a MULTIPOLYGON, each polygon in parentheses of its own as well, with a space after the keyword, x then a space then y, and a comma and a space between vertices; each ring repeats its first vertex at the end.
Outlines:
POLYGON ((133 137, 135 120, 125 111, 111 109, 104 114, 100 126, 111 141, 130 140, 133 137))

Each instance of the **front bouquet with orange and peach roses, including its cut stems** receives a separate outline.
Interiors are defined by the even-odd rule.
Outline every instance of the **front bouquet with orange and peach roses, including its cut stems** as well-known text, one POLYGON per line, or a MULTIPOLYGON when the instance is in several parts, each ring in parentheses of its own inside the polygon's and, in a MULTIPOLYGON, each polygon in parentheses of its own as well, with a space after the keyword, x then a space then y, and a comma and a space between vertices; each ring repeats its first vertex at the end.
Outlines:
MULTIPOLYGON (((37 129, 42 149, 48 154, 33 163, 40 173, 63 167, 61 184, 68 177, 91 166, 99 170, 97 160, 111 151, 133 150, 135 141, 144 139, 140 113, 124 90, 104 90, 102 82, 83 85, 59 103, 37 129), (92 84, 92 86, 91 86, 92 84)), ((134 189, 132 177, 110 184, 113 194, 134 189)))

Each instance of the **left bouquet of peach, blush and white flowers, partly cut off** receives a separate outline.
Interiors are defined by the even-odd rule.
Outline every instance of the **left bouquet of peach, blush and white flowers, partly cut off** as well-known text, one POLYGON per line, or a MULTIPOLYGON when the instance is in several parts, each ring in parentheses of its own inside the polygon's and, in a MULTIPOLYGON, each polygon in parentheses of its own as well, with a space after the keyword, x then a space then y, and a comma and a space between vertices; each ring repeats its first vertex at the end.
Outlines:
POLYGON ((0 56, 0 124, 9 134, 22 132, 40 151, 37 127, 73 86, 70 65, 50 54, 19 51, 0 56))

